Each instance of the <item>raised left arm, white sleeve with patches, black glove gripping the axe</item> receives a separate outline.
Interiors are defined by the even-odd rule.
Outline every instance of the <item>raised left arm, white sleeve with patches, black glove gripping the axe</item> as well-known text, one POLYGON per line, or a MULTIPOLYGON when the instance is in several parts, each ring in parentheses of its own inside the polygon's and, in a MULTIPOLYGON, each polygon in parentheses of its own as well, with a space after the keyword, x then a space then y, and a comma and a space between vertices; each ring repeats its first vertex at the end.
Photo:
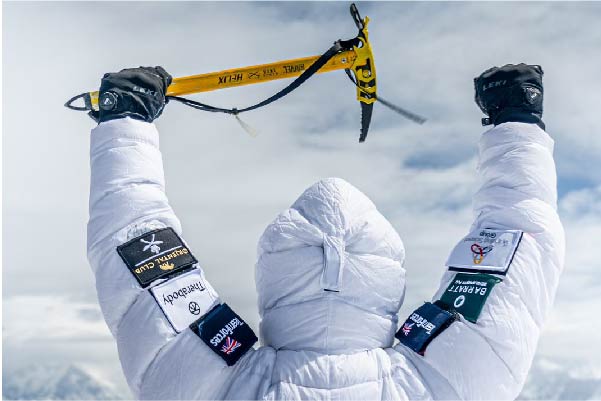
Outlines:
POLYGON ((252 347, 254 335, 240 319, 228 327, 232 338, 247 340, 243 346, 219 355, 224 339, 209 345, 222 328, 215 319, 238 317, 220 305, 165 195, 152 121, 170 79, 160 68, 103 79, 101 110, 94 115, 100 124, 91 136, 88 259, 135 397, 221 398, 232 374, 228 365, 252 347), (215 326, 205 325, 204 337, 201 322, 215 326))

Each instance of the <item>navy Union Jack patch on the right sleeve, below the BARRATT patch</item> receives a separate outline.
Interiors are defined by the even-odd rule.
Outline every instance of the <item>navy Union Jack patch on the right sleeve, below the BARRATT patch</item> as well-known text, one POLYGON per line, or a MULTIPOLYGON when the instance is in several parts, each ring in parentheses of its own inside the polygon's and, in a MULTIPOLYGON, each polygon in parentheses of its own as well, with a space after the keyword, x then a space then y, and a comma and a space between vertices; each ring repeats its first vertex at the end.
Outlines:
POLYGON ((428 344, 456 319, 457 316, 453 312, 426 302, 407 318, 395 337, 401 344, 424 355, 428 344))

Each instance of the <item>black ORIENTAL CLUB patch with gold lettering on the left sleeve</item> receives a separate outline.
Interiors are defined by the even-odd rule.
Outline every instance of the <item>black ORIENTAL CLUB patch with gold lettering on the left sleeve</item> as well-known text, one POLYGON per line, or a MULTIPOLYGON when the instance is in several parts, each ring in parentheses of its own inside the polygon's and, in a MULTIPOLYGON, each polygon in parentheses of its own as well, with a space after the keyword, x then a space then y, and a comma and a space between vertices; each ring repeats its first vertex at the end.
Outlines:
POLYGON ((117 252, 142 288, 198 263, 172 228, 150 231, 118 246, 117 252))

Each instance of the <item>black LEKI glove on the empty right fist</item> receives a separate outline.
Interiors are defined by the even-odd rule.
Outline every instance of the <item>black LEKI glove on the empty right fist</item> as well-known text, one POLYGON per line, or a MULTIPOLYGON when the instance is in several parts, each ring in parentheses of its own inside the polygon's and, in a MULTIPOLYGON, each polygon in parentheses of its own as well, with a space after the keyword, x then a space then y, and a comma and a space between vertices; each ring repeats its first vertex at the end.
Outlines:
POLYGON ((543 69, 540 65, 507 64, 474 78, 476 104, 488 116, 482 125, 515 121, 538 124, 543 117, 543 69))

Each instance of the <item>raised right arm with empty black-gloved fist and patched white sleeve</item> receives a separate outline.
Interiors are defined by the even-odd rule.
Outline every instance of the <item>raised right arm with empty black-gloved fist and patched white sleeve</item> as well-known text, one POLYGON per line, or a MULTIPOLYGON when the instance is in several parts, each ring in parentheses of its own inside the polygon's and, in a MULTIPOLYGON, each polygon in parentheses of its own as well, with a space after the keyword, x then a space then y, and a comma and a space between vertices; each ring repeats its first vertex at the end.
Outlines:
POLYGON ((480 139, 476 218, 432 303, 403 326, 433 322, 421 331, 431 342, 397 334, 397 349, 435 372, 425 378, 434 397, 516 398, 552 306, 565 240, 541 78, 540 67, 518 65, 476 80, 477 101, 496 125, 480 139))

